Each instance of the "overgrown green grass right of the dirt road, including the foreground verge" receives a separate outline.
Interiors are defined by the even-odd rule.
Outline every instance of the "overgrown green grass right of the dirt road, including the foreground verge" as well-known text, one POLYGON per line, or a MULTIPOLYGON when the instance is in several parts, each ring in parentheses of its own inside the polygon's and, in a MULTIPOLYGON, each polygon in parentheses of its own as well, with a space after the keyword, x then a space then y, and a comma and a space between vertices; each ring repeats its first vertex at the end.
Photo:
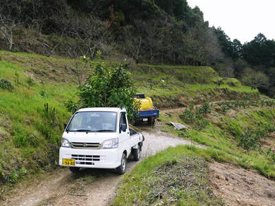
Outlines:
POLYGON ((239 110, 234 108, 235 113, 232 108, 228 113, 217 113, 217 103, 162 113, 162 131, 208 148, 177 146, 146 158, 124 176, 113 205, 223 205, 221 199, 212 195, 207 163, 201 159, 254 168, 275 178, 275 153, 261 147, 261 140, 275 130, 275 109, 271 107, 273 100, 264 102, 258 102, 257 107, 253 101, 253 106, 236 103, 239 110), (201 118, 209 124, 197 128, 196 122, 201 118), (188 123, 189 129, 175 130, 169 125, 171 121, 188 123))

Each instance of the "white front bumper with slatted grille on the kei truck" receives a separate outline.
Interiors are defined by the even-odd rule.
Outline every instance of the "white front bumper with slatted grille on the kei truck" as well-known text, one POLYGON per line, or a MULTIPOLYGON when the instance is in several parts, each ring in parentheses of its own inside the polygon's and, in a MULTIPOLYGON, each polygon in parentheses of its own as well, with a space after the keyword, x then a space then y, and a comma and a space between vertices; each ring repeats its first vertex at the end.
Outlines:
POLYGON ((115 149, 75 149, 63 148, 59 149, 59 165, 63 165, 63 159, 76 159, 77 168, 104 168, 115 169, 121 164, 120 152, 118 148, 115 149))

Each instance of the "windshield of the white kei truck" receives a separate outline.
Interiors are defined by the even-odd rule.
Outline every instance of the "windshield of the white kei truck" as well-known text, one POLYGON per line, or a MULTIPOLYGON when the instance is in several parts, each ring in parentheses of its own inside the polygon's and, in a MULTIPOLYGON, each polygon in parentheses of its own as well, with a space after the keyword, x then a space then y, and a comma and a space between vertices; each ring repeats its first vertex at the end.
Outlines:
POLYGON ((115 132, 116 115, 114 112, 79 112, 67 126, 69 132, 103 133, 115 132))

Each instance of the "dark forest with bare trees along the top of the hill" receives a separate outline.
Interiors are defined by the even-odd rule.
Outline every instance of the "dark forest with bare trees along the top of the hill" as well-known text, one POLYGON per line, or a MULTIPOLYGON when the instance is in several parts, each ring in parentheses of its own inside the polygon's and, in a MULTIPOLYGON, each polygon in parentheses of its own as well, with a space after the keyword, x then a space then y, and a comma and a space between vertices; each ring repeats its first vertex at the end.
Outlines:
POLYGON ((0 49, 211 66, 275 95, 275 41, 232 41, 186 0, 1 0, 0 49))

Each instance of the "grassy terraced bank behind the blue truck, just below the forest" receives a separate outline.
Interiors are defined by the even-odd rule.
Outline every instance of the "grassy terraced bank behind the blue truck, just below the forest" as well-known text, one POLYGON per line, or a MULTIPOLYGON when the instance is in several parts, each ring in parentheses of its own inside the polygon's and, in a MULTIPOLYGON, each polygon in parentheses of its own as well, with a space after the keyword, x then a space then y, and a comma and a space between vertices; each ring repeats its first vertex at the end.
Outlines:
POLYGON ((232 95, 258 95, 234 78, 223 80, 210 67, 138 65, 131 69, 138 91, 154 98, 157 108, 199 104, 205 100, 230 99, 232 95))

